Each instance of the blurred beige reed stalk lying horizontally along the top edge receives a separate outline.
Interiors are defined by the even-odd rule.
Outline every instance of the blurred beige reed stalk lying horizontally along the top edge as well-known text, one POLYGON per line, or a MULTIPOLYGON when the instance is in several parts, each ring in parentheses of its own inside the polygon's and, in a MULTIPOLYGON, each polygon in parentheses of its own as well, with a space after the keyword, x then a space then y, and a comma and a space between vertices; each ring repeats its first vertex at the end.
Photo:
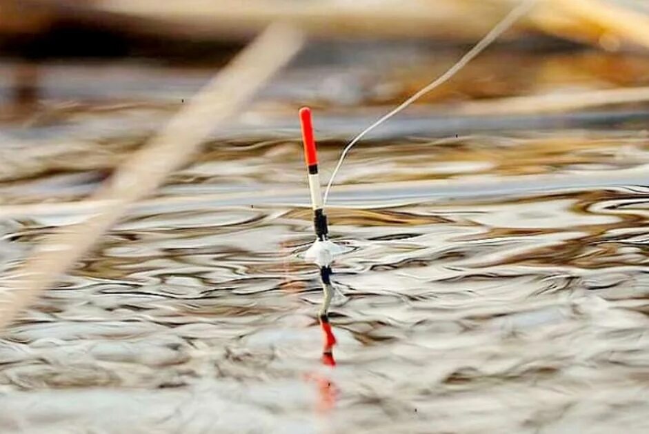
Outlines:
MULTIPOLYGON (((97 10, 166 21, 194 35, 245 37, 281 20, 320 37, 480 37, 501 11, 471 1, 346 2, 277 0, 100 0, 97 10)), ((173 31, 173 30, 172 30, 173 31)))

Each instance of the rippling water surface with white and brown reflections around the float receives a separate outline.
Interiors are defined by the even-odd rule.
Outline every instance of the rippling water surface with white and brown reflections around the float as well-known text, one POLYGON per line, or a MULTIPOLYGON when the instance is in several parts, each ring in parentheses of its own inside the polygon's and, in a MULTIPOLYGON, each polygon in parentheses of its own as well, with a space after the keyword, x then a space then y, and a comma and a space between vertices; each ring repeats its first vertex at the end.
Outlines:
MULTIPOLYGON (((0 431, 649 429, 646 133, 359 147, 329 210, 333 348, 286 135, 210 142, 7 331, 0 431)), ((6 140, 1 278, 139 137, 6 140)))

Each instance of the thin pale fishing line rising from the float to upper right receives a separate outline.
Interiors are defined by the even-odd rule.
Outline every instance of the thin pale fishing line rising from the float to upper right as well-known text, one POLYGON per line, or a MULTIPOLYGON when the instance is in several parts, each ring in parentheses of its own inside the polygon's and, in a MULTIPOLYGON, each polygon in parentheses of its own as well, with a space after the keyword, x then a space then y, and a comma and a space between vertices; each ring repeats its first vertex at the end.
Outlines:
POLYGON ((377 128, 377 126, 383 124, 383 122, 387 121, 394 115, 397 115, 397 113, 401 112, 404 108, 407 108, 410 106, 410 104, 414 103, 417 101, 417 99, 423 97, 423 95, 426 95, 428 92, 431 90, 437 88, 438 86, 441 86, 441 84, 446 83, 451 77, 453 77, 459 70, 464 68, 467 63, 472 61, 477 55, 479 55, 485 48, 490 46, 490 44, 495 41, 501 34, 506 32, 516 21, 521 19, 523 15, 527 14, 531 9, 532 6, 537 2, 537 0, 522 0, 515 8, 513 8, 499 23, 494 26, 486 35, 483 37, 471 50, 466 52, 463 57, 461 57, 453 66, 451 66, 446 72, 444 72, 441 76, 439 76, 437 79, 434 81, 428 83, 428 85, 421 90, 419 90, 415 95, 412 95, 412 97, 406 99, 406 101, 403 101, 399 106, 394 108, 392 111, 386 113, 386 115, 383 115, 379 120, 377 120, 374 124, 368 126, 365 130, 361 131, 359 135, 354 137, 352 141, 349 142, 349 144, 343 149, 343 152, 340 155, 340 158, 338 160, 338 164, 336 165, 336 168, 332 172, 332 175, 329 179, 329 183, 327 184, 327 188, 325 189, 324 193, 324 199, 323 199, 323 205, 327 204, 327 199, 329 198, 329 192, 331 190, 332 185, 334 184, 334 181, 336 179, 336 175, 338 174, 341 166, 343 165, 343 161, 345 160, 345 157, 347 157, 348 152, 354 147, 355 144, 358 143, 359 140, 361 140, 368 132, 371 130, 377 128))

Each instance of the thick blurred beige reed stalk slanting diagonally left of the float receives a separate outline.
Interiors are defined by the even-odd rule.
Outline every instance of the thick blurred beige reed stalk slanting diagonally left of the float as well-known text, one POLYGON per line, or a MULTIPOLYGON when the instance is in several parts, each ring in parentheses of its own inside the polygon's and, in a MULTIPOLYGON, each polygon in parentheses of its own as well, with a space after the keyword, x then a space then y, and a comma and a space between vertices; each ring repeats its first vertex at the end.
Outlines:
POLYGON ((16 270, 0 293, 0 330, 86 253, 130 204, 151 193, 172 170, 188 161, 208 133, 236 115, 302 43, 300 32, 274 24, 221 70, 92 195, 91 201, 104 204, 96 215, 52 234, 16 270))

